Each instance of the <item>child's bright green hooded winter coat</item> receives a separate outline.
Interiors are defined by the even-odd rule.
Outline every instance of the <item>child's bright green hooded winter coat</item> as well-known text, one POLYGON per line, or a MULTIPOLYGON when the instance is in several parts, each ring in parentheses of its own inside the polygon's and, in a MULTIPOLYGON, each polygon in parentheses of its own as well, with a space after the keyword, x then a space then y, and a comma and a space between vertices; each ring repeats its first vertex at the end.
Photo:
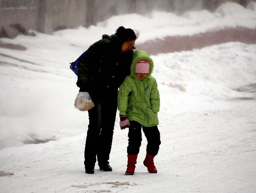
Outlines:
POLYGON ((145 127, 159 124, 157 112, 160 108, 160 98, 157 81, 151 77, 153 67, 154 63, 145 51, 135 51, 131 63, 131 74, 125 78, 118 92, 119 114, 145 127), (150 63, 149 73, 143 80, 139 80, 135 73, 135 66, 140 60, 150 63))

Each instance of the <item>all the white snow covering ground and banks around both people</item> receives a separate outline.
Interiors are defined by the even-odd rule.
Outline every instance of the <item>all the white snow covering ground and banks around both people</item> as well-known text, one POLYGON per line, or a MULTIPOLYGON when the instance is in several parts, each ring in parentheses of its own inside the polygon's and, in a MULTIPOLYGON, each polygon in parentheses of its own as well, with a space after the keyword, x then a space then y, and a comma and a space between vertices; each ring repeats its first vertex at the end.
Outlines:
POLYGON ((0 48, 0 192, 256 192, 256 45, 238 42, 151 56, 161 99, 157 174, 143 166, 143 137, 135 174, 124 175, 128 130, 120 130, 118 117, 113 172, 97 166, 93 175, 84 172, 88 116, 74 108, 79 88, 69 62, 119 26, 138 29, 137 43, 256 28, 256 3, 182 16, 130 14, 89 28, 0 39, 27 48, 0 48))

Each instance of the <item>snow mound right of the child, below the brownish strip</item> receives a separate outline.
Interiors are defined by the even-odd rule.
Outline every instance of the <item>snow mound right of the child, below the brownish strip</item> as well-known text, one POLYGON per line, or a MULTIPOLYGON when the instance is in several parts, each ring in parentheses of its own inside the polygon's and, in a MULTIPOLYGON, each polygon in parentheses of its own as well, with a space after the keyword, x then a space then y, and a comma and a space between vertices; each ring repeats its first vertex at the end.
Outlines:
POLYGON ((213 98, 255 97, 237 90, 256 82, 256 45, 226 43, 152 58, 160 83, 179 83, 191 94, 213 98))

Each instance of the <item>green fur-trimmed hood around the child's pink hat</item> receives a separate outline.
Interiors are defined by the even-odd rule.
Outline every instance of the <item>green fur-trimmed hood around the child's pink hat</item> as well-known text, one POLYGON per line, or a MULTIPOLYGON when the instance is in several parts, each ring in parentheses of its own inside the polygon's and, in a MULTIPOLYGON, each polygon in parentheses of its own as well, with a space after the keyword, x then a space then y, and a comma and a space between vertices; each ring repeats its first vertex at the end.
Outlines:
POLYGON ((152 72, 153 72, 153 68, 154 68, 154 62, 153 60, 148 56, 148 53, 143 51, 143 50, 137 50, 134 52, 133 58, 132 58, 132 62, 131 62, 131 76, 137 79, 136 73, 135 73, 135 67, 137 65, 137 63, 140 60, 146 60, 149 62, 149 73, 148 73, 148 77, 151 76, 152 72))

